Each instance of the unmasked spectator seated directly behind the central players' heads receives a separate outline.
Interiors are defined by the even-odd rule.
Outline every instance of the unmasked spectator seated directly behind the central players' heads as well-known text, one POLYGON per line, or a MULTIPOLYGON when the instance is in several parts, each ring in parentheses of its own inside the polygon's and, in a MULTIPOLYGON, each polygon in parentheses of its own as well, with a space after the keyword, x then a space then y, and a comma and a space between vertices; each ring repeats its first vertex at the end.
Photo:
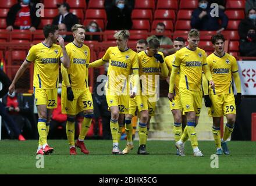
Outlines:
MULTIPOLYGON (((165 32, 165 24, 158 23, 157 28, 155 28, 155 32, 158 34, 165 32)), ((169 45, 172 46, 172 40, 169 37, 166 37, 165 35, 151 35, 147 38, 147 42, 151 39, 155 38, 160 42, 160 45, 169 45)), ((165 49, 165 48, 159 48, 159 52, 163 52, 163 55, 167 56, 174 52, 173 48, 171 49, 165 49)))

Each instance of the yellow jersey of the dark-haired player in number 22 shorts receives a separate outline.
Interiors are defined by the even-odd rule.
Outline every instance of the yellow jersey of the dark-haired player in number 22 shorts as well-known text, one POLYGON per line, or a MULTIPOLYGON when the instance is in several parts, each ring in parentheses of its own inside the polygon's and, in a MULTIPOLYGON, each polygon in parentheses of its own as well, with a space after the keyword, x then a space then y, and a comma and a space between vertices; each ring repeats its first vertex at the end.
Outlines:
POLYGON ((47 47, 43 42, 30 48, 27 62, 34 62, 33 86, 53 89, 59 83, 59 61, 62 58, 61 46, 47 47))

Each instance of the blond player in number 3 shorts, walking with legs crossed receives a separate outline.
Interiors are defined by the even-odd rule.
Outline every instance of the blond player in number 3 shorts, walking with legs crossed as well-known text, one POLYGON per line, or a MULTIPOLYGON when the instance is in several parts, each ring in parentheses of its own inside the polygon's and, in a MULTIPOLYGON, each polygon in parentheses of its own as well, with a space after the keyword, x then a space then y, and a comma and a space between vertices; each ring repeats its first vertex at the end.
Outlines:
POLYGON ((202 106, 202 70, 204 70, 211 88, 214 88, 214 81, 207 65, 205 51, 197 47, 200 41, 199 31, 191 29, 187 41, 189 45, 175 53, 168 98, 171 102, 175 99, 175 78, 177 71, 180 70, 179 92, 182 109, 187 117, 187 126, 184 128, 182 138, 176 142, 176 147, 179 149, 179 155, 184 156, 184 142, 190 138, 194 156, 203 156, 198 148, 195 133, 195 126, 198 123, 202 106))

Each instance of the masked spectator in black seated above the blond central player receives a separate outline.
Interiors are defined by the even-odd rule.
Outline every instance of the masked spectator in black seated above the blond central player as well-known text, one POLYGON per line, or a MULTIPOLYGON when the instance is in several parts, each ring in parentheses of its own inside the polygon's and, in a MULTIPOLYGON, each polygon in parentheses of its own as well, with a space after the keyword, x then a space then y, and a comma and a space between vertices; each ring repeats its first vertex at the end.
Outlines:
POLYGON ((108 16, 107 30, 130 30, 133 22, 131 22, 131 9, 125 5, 125 0, 116 0, 115 5, 109 10, 106 9, 108 16))

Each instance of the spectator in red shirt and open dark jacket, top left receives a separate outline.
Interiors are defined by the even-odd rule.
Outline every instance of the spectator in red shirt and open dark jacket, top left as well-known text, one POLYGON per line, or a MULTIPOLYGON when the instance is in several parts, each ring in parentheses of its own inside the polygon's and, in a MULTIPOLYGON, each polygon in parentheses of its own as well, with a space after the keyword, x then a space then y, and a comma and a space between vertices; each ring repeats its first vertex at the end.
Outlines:
POLYGON ((13 5, 6 17, 6 30, 13 29, 35 31, 40 24, 40 17, 36 16, 35 3, 22 0, 13 5))

